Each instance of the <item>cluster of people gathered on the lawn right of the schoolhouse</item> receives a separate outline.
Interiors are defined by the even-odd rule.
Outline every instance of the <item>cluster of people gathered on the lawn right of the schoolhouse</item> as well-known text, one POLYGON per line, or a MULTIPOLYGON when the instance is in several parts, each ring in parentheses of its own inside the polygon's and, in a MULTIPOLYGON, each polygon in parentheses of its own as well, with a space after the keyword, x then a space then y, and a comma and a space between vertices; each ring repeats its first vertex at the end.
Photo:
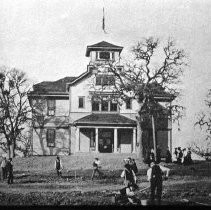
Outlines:
POLYGON ((190 165, 193 163, 192 157, 191 157, 191 148, 183 148, 177 147, 174 149, 174 157, 175 157, 175 162, 178 164, 183 164, 183 165, 190 165))

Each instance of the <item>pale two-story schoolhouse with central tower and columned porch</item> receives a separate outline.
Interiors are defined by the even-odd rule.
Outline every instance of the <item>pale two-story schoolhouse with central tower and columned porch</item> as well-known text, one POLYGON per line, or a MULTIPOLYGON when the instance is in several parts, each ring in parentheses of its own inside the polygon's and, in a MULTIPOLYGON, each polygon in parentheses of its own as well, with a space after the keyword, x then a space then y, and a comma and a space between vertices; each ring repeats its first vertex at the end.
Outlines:
MULTIPOLYGON (((109 87, 115 82, 112 75, 93 68, 106 60, 118 63, 122 50, 123 47, 105 41, 87 46, 90 62, 83 74, 33 86, 29 94, 31 104, 37 101, 43 104, 40 120, 33 123, 34 155, 136 153, 136 100, 120 106, 118 99, 111 97, 114 93, 109 87), (98 88, 102 84, 108 85, 104 91, 98 88)), ((120 64, 119 67, 122 68, 120 64)), ((165 101, 166 97, 164 94, 161 98, 165 101)), ((162 121, 156 139, 164 154, 167 147, 172 147, 172 129, 170 118, 162 121)), ((153 147, 150 125, 146 126, 143 138, 144 151, 153 147)))

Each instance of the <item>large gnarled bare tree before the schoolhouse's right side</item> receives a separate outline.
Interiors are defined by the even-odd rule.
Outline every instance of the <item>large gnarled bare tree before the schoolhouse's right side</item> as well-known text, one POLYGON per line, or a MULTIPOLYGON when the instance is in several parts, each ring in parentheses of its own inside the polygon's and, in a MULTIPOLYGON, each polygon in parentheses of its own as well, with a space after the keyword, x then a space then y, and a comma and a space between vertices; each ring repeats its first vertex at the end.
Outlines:
MULTIPOLYGON (((160 115, 162 111, 156 106, 158 102, 166 102, 165 107, 173 115, 173 120, 178 120, 182 116, 181 111, 184 110, 183 106, 170 103, 180 94, 178 84, 187 65, 184 50, 178 49, 170 38, 163 47, 160 45, 158 39, 144 38, 132 48, 133 59, 125 62, 124 68, 110 60, 103 64, 95 64, 95 70, 98 72, 104 71, 114 75, 113 96, 120 98, 121 101, 135 99, 139 104, 136 121, 140 162, 144 158, 142 146, 144 117, 150 117, 153 122, 154 118, 160 115)), ((108 86, 102 85, 98 91, 108 91, 108 86)), ((155 144, 154 147, 156 150, 155 144)))

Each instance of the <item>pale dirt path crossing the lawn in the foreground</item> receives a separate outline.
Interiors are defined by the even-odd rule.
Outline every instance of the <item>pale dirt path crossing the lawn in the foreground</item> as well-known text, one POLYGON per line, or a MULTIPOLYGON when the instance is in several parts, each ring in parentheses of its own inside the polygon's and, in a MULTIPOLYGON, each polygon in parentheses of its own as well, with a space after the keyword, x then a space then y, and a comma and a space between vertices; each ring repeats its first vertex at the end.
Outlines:
MULTIPOLYGON (((164 189, 172 185, 188 185, 191 183, 198 183, 211 185, 211 180, 197 181, 197 180, 167 180, 163 182, 164 189)), ((142 182, 139 184, 140 189, 149 186, 148 182, 142 182)), ((33 183, 33 184, 13 184, 8 185, 7 183, 0 183, 0 192, 18 192, 18 193, 29 193, 29 192, 112 192, 118 191, 123 187, 122 184, 100 184, 97 181, 87 181, 84 183, 80 182, 63 182, 63 183, 33 183)))

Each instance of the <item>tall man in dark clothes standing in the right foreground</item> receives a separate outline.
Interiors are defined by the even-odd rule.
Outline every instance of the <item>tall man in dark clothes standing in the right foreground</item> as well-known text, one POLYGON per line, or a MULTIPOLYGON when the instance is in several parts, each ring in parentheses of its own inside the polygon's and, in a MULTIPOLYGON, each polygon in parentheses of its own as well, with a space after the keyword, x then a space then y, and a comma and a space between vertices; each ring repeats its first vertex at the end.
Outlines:
POLYGON ((147 170, 148 181, 150 182, 150 201, 153 204, 155 200, 155 190, 156 196, 158 199, 158 205, 161 204, 161 195, 162 195, 162 170, 159 164, 156 164, 154 161, 151 162, 150 168, 147 170))

